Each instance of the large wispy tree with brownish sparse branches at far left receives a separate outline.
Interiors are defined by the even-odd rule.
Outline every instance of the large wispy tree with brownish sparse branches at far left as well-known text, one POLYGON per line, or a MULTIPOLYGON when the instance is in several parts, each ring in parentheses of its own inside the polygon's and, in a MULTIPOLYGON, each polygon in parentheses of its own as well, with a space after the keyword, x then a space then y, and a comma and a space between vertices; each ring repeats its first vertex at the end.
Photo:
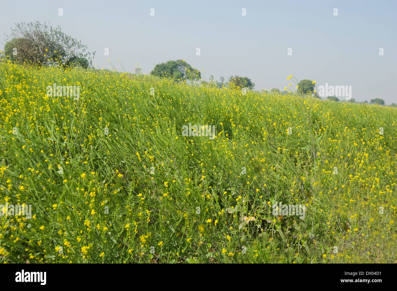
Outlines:
POLYGON ((92 65, 91 53, 86 52, 87 46, 81 44, 81 40, 64 34, 59 26, 54 28, 39 21, 22 22, 16 24, 10 35, 6 36, 4 52, 19 63, 85 68, 92 65), (16 53, 12 54, 14 51, 16 53))

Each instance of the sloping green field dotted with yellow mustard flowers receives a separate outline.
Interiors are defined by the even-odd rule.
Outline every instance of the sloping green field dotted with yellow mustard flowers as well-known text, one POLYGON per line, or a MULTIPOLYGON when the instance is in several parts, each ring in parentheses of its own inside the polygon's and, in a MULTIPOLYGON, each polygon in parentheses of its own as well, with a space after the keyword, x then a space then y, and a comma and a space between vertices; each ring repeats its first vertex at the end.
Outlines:
POLYGON ((0 216, 0 262, 397 259, 395 108, 10 62, 0 100, 0 204, 32 205, 0 216))

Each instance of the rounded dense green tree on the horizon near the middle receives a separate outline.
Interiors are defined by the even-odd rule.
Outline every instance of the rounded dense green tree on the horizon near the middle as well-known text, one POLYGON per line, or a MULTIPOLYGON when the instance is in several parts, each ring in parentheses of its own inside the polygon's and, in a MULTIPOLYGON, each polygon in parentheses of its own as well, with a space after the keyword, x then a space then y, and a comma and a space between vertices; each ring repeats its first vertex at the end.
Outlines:
POLYGON ((157 64, 150 75, 173 78, 175 81, 199 80, 201 78, 201 73, 197 69, 193 69, 191 65, 181 59, 157 64))

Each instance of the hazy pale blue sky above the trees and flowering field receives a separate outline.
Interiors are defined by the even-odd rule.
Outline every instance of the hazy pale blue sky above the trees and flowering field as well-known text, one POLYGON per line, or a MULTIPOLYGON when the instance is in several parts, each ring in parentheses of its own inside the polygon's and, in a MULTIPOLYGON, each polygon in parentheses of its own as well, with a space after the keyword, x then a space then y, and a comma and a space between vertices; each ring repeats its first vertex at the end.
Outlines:
POLYGON ((291 74, 352 86, 356 100, 397 102, 397 1, 1 0, 0 7, 1 49, 14 23, 49 21, 96 51, 100 68, 120 59, 127 71, 139 62, 148 74, 157 63, 185 59, 206 80, 237 74, 256 90, 283 90, 291 74))

